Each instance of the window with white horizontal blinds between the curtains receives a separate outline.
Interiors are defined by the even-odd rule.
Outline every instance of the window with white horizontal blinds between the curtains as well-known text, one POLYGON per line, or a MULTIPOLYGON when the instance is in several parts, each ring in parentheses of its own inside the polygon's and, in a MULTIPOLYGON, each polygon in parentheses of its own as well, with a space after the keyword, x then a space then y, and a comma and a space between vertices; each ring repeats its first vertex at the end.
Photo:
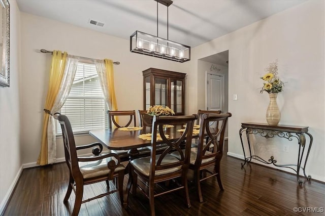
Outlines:
MULTIPOLYGON (((60 113, 69 117, 74 133, 108 127, 108 110, 94 64, 78 62, 67 101, 60 113)), ((62 134, 57 124, 57 134, 62 134)))

